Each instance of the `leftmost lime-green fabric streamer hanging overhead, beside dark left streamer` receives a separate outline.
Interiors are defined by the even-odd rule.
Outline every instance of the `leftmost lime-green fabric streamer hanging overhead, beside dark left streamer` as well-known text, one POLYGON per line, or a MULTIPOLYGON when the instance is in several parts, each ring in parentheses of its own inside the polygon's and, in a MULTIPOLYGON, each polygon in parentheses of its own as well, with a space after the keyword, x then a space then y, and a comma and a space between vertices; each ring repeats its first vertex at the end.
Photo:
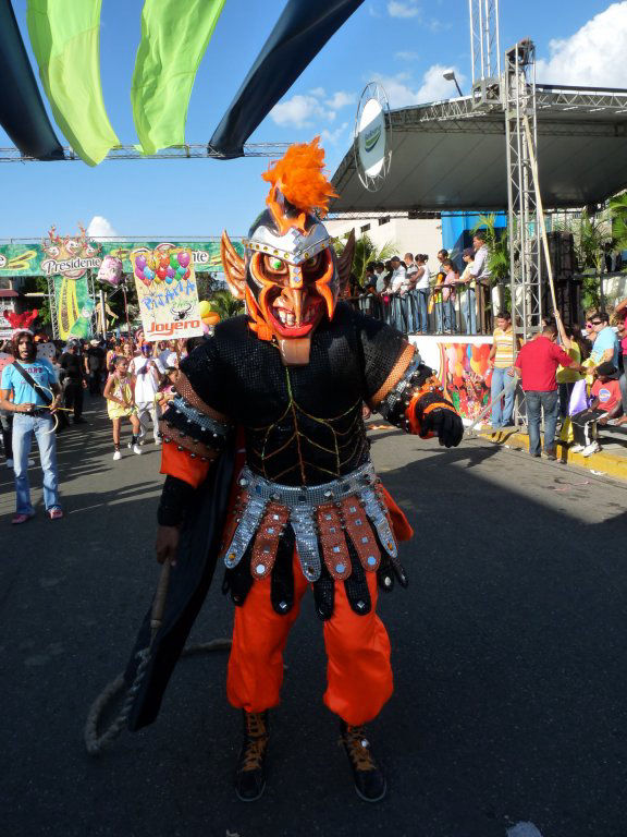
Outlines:
POLYGON ((100 84, 101 0, 28 0, 28 34, 57 124, 97 166, 120 141, 100 84))

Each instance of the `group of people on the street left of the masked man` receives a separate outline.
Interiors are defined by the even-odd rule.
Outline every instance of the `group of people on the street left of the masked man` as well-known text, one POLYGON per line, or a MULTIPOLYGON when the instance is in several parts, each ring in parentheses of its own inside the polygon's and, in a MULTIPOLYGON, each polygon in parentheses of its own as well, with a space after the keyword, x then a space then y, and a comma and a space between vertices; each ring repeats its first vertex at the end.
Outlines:
POLYGON ((63 517, 59 499, 56 437, 72 422, 81 429, 84 393, 104 399, 112 424, 113 460, 122 458, 121 425, 127 418, 127 447, 136 454, 151 433, 160 445, 159 418, 172 397, 173 376, 183 356, 204 338, 146 342, 134 337, 66 343, 45 332, 24 329, 0 345, 0 421, 7 466, 15 476, 16 511, 12 522, 25 523, 35 513, 28 468, 33 439, 44 472, 44 500, 51 520, 63 517))

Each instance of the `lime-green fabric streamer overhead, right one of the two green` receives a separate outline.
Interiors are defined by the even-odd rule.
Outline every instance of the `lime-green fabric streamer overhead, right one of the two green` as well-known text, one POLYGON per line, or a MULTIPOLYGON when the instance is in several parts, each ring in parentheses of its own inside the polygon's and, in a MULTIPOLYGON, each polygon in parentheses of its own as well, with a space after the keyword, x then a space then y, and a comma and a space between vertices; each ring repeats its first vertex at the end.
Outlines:
POLYGON ((131 101, 146 154, 185 143, 198 65, 225 0, 146 0, 131 101))

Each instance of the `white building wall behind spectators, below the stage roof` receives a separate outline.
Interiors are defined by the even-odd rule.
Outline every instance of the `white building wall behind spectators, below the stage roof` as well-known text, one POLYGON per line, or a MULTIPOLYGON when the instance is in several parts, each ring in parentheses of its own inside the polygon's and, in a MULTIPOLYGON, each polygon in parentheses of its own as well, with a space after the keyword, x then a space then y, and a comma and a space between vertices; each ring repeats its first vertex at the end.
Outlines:
POLYGON ((377 247, 391 244, 401 258, 405 253, 426 253, 432 265, 435 254, 442 250, 442 223, 435 218, 340 218, 327 220, 324 226, 335 238, 351 230, 355 230, 356 238, 366 233, 377 247))

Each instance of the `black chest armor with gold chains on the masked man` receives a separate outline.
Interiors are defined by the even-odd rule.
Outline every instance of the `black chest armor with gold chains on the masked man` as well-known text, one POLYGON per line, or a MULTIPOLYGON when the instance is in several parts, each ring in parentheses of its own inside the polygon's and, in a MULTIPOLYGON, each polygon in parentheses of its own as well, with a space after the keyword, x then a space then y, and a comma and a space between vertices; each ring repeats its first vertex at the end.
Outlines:
POLYGON ((381 325, 340 304, 333 322, 314 333, 309 363, 286 367, 274 343, 253 333, 246 317, 235 317, 182 369, 206 403, 244 428, 254 472, 286 485, 318 485, 368 459, 364 401, 403 344, 398 332, 381 325))

